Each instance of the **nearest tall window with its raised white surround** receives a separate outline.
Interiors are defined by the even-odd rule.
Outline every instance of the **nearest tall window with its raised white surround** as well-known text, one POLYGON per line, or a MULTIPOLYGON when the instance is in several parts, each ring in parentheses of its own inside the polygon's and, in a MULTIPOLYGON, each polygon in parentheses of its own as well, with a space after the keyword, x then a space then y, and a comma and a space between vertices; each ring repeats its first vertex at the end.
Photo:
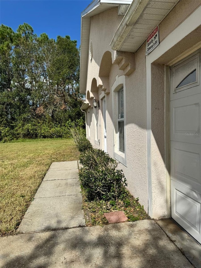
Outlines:
POLYGON ((116 76, 111 87, 113 113, 113 157, 127 166, 126 153, 126 85, 125 76, 116 76))

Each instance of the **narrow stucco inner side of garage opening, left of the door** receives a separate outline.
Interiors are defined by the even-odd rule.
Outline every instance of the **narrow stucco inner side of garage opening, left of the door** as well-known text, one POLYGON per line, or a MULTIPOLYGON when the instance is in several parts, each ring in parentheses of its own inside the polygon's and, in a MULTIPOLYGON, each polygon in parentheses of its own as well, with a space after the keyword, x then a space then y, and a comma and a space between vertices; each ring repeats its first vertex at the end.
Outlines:
MULTIPOLYGON (((168 122, 167 122, 168 123, 168 122)), ((152 188, 155 218, 166 217, 165 66, 151 65, 152 188)))

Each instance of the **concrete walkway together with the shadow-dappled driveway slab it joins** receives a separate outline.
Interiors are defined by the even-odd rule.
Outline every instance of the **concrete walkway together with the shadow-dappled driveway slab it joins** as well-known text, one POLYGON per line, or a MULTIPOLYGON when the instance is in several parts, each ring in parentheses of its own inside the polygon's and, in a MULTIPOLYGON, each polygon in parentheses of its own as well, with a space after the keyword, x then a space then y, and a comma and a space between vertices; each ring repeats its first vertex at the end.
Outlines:
POLYGON ((167 219, 86 227, 77 161, 52 163, 20 233, 0 238, 0 268, 200 268, 201 247, 172 224, 167 219))

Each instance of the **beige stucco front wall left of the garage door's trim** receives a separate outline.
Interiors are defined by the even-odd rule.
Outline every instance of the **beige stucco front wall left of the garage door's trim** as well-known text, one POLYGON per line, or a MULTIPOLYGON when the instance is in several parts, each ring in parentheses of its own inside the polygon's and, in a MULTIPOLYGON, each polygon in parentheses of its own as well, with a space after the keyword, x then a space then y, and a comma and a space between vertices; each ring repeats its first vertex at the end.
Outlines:
MULTIPOLYGON (((90 40, 93 42, 93 58, 88 62, 87 90, 91 90, 92 80, 95 78, 97 85, 101 82, 99 78, 99 67, 104 52, 110 51, 111 57, 114 57, 114 51, 111 50, 111 39, 122 20, 122 16, 117 15, 117 8, 110 9, 91 18, 90 40), (98 29, 98 30, 97 30, 98 29)), ((127 167, 119 164, 128 182, 128 189, 134 197, 139 197, 139 202, 144 205, 148 211, 147 195, 147 167, 146 167, 146 80, 145 78, 145 46, 142 46, 136 56, 136 71, 126 76, 126 133, 127 133, 127 167)), ((119 70, 118 64, 112 64, 108 85, 111 86, 116 80, 116 76, 123 75, 119 70)), ((92 92, 93 93, 93 92, 92 92)), ((101 87, 98 89, 99 99, 101 98, 101 87)), ((92 96, 92 95, 91 95, 92 96)), ((112 94, 106 96, 106 129, 107 129, 107 151, 113 156, 113 113, 112 113, 112 94)), ((102 101, 100 100, 100 110, 98 117, 98 139, 100 145, 95 144, 95 128, 92 117, 90 128, 90 141, 95 148, 104 149, 103 140, 103 119, 102 119, 102 101), (101 116, 100 116, 101 115, 101 116)), ((89 108, 90 113, 93 108, 89 108)))

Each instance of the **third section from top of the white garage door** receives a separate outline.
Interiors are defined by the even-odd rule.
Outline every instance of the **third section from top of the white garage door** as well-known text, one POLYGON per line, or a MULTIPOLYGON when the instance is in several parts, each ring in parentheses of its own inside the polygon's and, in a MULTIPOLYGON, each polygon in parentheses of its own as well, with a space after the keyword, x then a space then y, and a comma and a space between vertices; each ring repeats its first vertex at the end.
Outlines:
POLYGON ((171 179, 201 193, 201 145, 171 142, 171 179))

